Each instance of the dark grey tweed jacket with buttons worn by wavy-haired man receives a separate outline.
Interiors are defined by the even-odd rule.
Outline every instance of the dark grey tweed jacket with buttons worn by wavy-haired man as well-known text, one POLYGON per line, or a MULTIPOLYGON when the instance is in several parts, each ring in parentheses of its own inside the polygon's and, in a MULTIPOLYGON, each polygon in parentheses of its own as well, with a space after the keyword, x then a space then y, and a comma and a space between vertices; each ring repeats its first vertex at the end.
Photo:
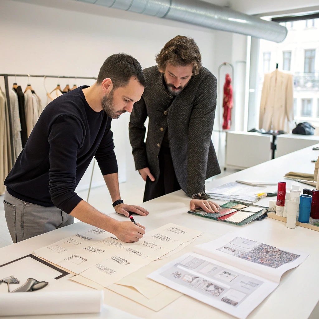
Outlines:
POLYGON ((159 150, 166 129, 176 178, 188 195, 205 190, 205 180, 220 173, 213 130, 217 80, 206 68, 174 98, 157 66, 144 69, 146 87, 130 115, 129 136, 136 170, 149 167, 159 178, 159 150), (170 104, 171 103, 171 104, 170 104), (168 107, 169 106, 169 107, 168 107), (149 117, 146 143, 144 122, 149 117))

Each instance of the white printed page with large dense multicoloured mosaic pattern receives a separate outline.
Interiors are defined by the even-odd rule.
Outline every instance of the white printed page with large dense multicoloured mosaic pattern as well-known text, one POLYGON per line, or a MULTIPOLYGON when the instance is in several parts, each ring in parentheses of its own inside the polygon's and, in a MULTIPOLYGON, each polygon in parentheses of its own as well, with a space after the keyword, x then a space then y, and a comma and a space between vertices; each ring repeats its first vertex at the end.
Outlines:
POLYGON ((309 256, 303 251, 276 248, 243 236, 242 232, 228 233, 195 246, 193 251, 277 283, 287 270, 299 266, 309 256))

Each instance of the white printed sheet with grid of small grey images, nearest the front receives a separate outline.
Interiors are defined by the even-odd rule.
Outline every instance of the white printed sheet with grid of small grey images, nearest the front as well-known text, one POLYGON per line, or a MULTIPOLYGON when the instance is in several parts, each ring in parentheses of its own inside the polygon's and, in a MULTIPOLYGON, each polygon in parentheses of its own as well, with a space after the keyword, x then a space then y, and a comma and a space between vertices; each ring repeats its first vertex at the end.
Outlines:
POLYGON ((195 253, 185 254, 147 277, 241 319, 278 286, 195 253))

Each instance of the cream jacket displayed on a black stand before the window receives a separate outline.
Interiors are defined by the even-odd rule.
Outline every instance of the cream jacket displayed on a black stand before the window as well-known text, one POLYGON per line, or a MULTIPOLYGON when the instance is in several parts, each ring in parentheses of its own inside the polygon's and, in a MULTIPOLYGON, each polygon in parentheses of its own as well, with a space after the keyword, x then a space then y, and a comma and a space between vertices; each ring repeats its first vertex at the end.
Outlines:
POLYGON ((293 121, 293 75, 276 69, 265 74, 261 93, 259 129, 289 133, 293 121))

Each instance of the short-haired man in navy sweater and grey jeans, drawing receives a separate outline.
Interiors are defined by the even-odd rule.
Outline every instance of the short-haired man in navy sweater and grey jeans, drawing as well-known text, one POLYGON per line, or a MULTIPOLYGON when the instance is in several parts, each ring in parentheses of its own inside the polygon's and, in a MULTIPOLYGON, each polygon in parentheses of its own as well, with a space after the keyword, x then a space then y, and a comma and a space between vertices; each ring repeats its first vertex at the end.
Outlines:
POLYGON ((53 100, 42 112, 6 178, 4 211, 13 242, 73 223, 85 223, 135 242, 145 227, 104 215, 75 193, 93 156, 119 214, 146 216, 120 197, 111 119, 132 112, 141 99, 141 65, 124 53, 109 56, 92 86, 81 86, 53 100))

